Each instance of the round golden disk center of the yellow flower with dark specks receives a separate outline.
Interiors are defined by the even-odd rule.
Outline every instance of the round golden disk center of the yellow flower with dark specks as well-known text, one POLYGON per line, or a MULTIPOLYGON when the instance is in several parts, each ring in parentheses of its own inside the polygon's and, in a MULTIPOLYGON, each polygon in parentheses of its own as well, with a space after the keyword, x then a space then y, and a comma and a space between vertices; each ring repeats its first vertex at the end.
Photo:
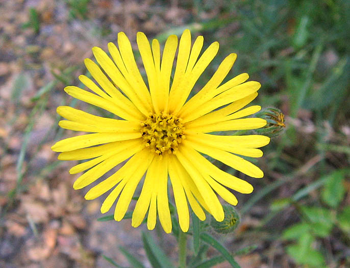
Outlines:
POLYGON ((176 153, 179 143, 185 138, 182 119, 158 112, 149 114, 141 123, 141 134, 146 147, 158 155, 176 153))

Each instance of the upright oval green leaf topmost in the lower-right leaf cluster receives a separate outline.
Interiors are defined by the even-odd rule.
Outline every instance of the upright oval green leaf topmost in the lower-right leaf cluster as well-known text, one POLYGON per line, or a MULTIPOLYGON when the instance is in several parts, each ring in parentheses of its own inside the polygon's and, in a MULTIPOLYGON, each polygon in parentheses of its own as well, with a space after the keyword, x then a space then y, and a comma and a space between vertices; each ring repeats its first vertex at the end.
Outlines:
POLYGON ((343 200, 345 194, 344 172, 343 170, 337 170, 327 177, 328 180, 322 189, 321 198, 324 203, 336 208, 343 200))

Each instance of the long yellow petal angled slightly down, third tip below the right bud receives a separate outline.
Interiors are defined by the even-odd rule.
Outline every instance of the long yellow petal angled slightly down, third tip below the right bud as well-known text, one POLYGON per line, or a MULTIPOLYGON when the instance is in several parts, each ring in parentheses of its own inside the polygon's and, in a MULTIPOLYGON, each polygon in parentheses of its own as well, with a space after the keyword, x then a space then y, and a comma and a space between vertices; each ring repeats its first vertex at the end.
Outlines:
POLYGON ((208 145, 203 145, 197 141, 187 141, 191 147, 203 154, 209 155, 212 158, 219 160, 220 162, 231 166, 232 168, 248 175, 253 178, 262 178, 264 177, 264 173, 262 170, 251 162, 228 153, 223 150, 219 150, 213 147, 209 147, 208 145))

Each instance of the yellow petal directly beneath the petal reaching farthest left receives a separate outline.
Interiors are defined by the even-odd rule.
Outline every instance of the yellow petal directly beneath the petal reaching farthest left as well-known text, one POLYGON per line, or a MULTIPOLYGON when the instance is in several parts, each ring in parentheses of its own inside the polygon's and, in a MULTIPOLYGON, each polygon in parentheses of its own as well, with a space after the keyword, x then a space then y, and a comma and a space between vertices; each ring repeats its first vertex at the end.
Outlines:
POLYGON ((109 152, 119 152, 126 148, 132 148, 138 143, 141 143, 142 139, 131 139, 131 140, 120 140, 110 142, 104 145, 77 149, 73 151, 63 152, 58 155, 58 160, 84 160, 89 158, 94 158, 102 156, 103 154, 108 154, 109 152))

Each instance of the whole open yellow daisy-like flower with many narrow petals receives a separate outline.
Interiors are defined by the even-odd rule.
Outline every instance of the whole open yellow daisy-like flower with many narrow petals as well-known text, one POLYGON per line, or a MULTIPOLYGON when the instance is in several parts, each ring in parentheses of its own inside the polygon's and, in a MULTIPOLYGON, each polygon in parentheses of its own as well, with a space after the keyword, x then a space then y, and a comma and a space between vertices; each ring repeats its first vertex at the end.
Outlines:
POLYGON ((261 109, 260 106, 242 109, 256 98, 260 83, 245 82, 248 75, 241 74, 220 85, 237 57, 230 54, 207 84, 186 102, 199 76, 215 57, 219 43, 209 45, 199 57, 203 36, 198 36, 191 47, 190 31, 185 30, 179 43, 172 83, 170 77, 178 49, 177 36, 168 37, 162 56, 158 40, 154 39, 150 45, 143 33, 137 33, 137 45, 148 86, 124 33, 118 34, 119 48, 113 43, 108 44, 112 59, 101 48, 93 47, 99 66, 90 59, 85 60, 85 65, 98 85, 86 76, 79 77, 93 93, 75 86, 64 90, 73 98, 115 114, 118 119, 60 106, 57 112, 67 119, 59 122, 62 128, 92 134, 63 139, 53 145, 52 150, 61 152, 58 156, 60 160, 91 159, 69 170, 70 174, 87 170, 74 182, 74 189, 95 182, 129 159, 113 175, 93 186, 85 196, 87 200, 92 200, 112 189, 101 212, 110 210, 119 197, 114 212, 116 221, 124 217, 137 186, 146 174, 132 215, 133 227, 142 223, 148 211, 147 227, 154 229, 158 212, 163 229, 171 232, 168 175, 179 224, 184 232, 189 228, 188 203, 200 220, 206 218, 205 209, 220 222, 224 211, 217 194, 236 205, 237 199, 229 189, 251 193, 253 186, 219 169, 203 155, 248 176, 261 178, 261 169, 238 155, 261 157, 263 153, 257 148, 268 144, 270 139, 261 135, 207 133, 264 127, 264 119, 241 118, 261 109))

